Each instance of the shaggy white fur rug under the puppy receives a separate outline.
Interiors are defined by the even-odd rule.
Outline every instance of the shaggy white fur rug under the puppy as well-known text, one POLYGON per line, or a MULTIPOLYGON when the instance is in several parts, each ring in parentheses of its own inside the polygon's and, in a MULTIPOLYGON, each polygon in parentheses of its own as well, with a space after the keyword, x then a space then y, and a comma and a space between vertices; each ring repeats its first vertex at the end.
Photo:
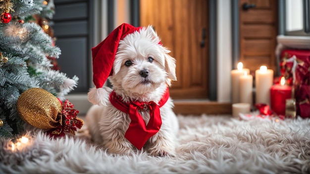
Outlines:
POLYGON ((65 139, 49 139, 39 132, 14 151, 10 140, 0 139, 0 174, 310 173, 310 119, 178 119, 175 157, 108 154, 89 141, 85 125, 79 135, 65 139))

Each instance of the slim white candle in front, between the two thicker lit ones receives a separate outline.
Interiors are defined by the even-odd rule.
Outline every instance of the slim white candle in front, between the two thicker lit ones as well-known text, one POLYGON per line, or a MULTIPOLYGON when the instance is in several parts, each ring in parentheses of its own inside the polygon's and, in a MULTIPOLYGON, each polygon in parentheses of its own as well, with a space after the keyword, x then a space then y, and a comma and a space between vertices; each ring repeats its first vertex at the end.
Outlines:
POLYGON ((239 78, 240 103, 253 104, 253 76, 246 71, 239 78))

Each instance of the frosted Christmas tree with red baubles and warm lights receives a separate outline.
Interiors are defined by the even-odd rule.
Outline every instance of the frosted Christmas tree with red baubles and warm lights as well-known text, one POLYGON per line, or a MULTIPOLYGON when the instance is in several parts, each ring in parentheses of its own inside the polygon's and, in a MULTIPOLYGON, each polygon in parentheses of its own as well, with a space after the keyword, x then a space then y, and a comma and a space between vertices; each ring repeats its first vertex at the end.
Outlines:
POLYGON ((42 88, 60 100, 77 85, 53 69, 49 57, 61 51, 50 35, 35 22, 35 15, 52 18, 53 4, 47 0, 0 0, 0 137, 23 131, 24 121, 16 109, 18 97, 30 88, 42 88))

